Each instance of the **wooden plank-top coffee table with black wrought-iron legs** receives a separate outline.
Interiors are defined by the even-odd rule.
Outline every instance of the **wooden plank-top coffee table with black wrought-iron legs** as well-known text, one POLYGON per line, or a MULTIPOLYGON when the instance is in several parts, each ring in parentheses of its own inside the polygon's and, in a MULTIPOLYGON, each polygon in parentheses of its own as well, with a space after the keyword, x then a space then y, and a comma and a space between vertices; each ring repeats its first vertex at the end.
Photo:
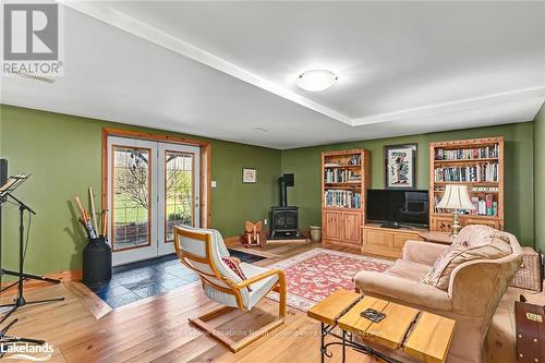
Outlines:
POLYGON ((456 324, 447 317, 347 290, 324 299, 307 315, 320 322, 323 363, 326 356, 331 358, 328 348, 336 344, 342 347, 342 362, 347 347, 388 363, 445 362, 456 324), (360 316, 366 308, 380 311, 386 317, 373 323, 360 316), (326 343, 326 337, 335 340, 326 343))

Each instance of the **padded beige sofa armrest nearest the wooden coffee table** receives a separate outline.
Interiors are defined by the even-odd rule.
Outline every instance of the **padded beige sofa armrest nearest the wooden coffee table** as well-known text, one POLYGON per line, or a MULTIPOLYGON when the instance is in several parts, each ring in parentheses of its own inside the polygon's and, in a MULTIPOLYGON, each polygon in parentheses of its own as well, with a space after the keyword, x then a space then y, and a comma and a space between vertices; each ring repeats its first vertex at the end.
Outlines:
POLYGON ((447 291, 429 285, 377 271, 360 271, 354 280, 355 286, 366 295, 384 297, 401 303, 441 311, 452 310, 447 291))

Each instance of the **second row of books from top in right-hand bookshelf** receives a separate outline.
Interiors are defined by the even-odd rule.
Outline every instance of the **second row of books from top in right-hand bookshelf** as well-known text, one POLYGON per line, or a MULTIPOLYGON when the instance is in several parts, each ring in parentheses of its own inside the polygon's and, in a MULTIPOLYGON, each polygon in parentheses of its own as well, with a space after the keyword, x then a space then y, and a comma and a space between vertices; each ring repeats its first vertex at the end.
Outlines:
POLYGON ((472 167, 436 168, 436 182, 497 182, 498 164, 484 164, 472 167))

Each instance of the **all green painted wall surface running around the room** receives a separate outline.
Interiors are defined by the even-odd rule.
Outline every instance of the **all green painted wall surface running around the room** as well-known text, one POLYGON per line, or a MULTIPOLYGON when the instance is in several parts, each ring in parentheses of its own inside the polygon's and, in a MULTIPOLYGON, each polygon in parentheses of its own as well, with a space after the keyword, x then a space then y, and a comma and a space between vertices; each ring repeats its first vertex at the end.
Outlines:
MULTIPOLYGON (((535 205, 543 206, 545 171, 544 110, 535 126, 535 205), (542 161, 542 162, 540 162, 542 161)), ((81 267, 85 237, 72 206, 74 195, 86 201, 87 187, 100 192, 101 129, 122 128, 167 134, 165 131, 130 126, 68 114, 0 105, 0 156, 10 161, 10 173, 33 173, 17 196, 28 202, 38 215, 33 219, 28 270, 38 274, 81 267)), ((173 133, 169 133, 173 134, 173 133)), ((187 136, 177 134, 179 136, 187 136)), ((534 241, 534 123, 516 123, 474 130, 422 134, 336 145, 276 150, 238 143, 211 143, 213 189, 211 225, 226 237, 239 234, 246 219, 267 218, 277 204, 280 172, 294 172, 295 186, 289 189, 291 205, 301 208, 301 227, 320 222, 320 153, 323 150, 365 148, 372 152, 372 185, 384 186, 383 147, 419 143, 417 186, 428 187, 428 143, 484 136, 506 137, 506 229, 525 245, 534 241), (242 167, 257 168, 257 184, 241 182, 242 167)), ((542 208, 543 209, 543 208, 542 208)), ((536 208, 536 220, 544 215, 536 208)), ((16 267, 17 213, 4 210, 2 266, 16 267)), ((542 218, 543 219, 543 218, 542 218)), ((545 250, 545 227, 536 223, 535 233, 545 250)))

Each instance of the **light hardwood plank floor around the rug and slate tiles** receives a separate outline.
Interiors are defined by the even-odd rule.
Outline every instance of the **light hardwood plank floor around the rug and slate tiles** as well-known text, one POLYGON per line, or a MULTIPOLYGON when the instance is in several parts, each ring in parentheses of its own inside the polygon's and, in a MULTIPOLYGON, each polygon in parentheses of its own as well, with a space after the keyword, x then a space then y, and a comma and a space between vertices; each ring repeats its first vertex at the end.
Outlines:
MULTIPOLYGON (((271 244, 261 251, 268 265, 316 247, 316 244, 271 244)), ((339 249, 337 249, 339 250, 339 249)), ((348 252, 354 252, 341 249, 348 252)), ((513 301, 523 293, 530 302, 545 304, 545 294, 510 288, 504 298, 488 335, 489 362, 514 362, 513 301)), ((10 330, 45 339, 53 344, 48 362, 319 362, 319 326, 294 308, 288 310, 286 324, 249 348, 233 354, 223 346, 187 324, 187 318, 217 307, 199 285, 183 287, 116 310, 78 282, 64 282, 29 290, 27 300, 63 295, 64 302, 22 307, 14 314, 20 322, 10 330)), ((11 300, 2 297, 0 301, 11 300)), ((264 299, 251 313, 233 312, 214 322, 220 331, 243 334, 269 323, 277 303, 264 299), (246 330, 244 330, 246 328, 246 330)), ((9 319, 11 320, 11 318, 9 319)), ((339 351, 327 362, 340 362, 339 351)), ((376 362, 349 350, 348 362, 376 362)))

